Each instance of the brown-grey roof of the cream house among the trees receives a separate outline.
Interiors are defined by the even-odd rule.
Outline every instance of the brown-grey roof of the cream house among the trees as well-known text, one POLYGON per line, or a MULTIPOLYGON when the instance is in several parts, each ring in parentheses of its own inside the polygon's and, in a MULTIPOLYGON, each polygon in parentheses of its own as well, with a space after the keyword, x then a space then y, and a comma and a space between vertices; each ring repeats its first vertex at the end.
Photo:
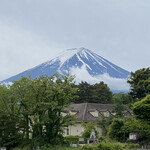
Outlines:
MULTIPOLYGON (((109 112, 110 114, 113 111, 113 104, 99 104, 99 103, 80 103, 80 104, 71 104, 69 111, 77 112, 77 122, 92 122, 97 119, 102 119, 103 112, 109 112), (90 112, 98 112, 98 116, 94 117, 90 112)), ((127 112, 131 115, 131 111, 127 108, 127 112)))

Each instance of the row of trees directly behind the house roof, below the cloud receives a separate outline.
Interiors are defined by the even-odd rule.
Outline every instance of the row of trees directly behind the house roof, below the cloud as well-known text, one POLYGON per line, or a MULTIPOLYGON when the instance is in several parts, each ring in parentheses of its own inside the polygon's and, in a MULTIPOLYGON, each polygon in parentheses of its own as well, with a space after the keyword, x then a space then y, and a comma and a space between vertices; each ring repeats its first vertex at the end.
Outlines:
POLYGON ((89 84, 81 82, 75 85, 78 88, 73 100, 74 103, 101 103, 101 104, 130 104, 133 103, 132 96, 128 93, 112 93, 104 82, 89 84))

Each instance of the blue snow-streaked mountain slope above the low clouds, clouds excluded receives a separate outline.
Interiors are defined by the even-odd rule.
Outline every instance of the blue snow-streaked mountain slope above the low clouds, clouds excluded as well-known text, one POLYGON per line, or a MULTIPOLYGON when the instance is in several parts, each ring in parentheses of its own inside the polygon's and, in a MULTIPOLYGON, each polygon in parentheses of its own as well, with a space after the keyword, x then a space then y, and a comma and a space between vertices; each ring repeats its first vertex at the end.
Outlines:
MULTIPOLYGON (((73 48, 66 50, 58 57, 42 63, 32 69, 26 70, 18 75, 10 77, 4 82, 12 82, 19 79, 21 76, 32 78, 40 75, 52 75, 54 73, 66 74, 68 71, 71 74, 81 74, 85 70, 89 76, 96 78, 107 74, 111 78, 126 79, 129 76, 129 72, 120 68, 119 66, 109 62, 103 57, 93 53, 85 48, 73 48), (75 72, 75 70, 77 70, 75 72)), ((86 80, 86 79, 85 79, 86 80)))

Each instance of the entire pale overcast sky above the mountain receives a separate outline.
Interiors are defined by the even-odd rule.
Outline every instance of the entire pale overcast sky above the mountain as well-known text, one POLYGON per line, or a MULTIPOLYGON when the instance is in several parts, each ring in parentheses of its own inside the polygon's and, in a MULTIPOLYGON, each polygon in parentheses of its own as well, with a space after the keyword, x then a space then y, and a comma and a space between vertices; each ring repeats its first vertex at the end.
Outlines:
POLYGON ((149 0, 0 0, 0 81, 74 47, 149 67, 149 17, 149 0))

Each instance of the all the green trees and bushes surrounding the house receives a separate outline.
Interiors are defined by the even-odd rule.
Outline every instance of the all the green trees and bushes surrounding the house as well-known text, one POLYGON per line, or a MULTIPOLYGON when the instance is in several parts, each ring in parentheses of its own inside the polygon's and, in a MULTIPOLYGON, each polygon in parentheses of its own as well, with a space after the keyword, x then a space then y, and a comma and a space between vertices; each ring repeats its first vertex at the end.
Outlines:
POLYGON ((20 147, 24 150, 35 147, 41 150, 128 150, 135 146, 124 144, 132 142, 129 133, 138 134, 134 142, 147 143, 150 141, 150 69, 131 73, 128 83, 131 87, 129 94, 112 93, 104 82, 75 85, 73 77, 58 75, 36 79, 22 77, 10 86, 1 85, 0 147, 20 147), (114 104, 116 115, 83 125, 85 138, 89 137, 92 129, 97 135, 95 124, 103 129, 104 137, 99 139, 97 145, 54 147, 78 141, 77 136, 63 137, 64 127, 75 123, 75 117, 65 109, 71 102, 114 104), (133 110, 133 115, 128 118, 123 113, 127 106, 133 110))

